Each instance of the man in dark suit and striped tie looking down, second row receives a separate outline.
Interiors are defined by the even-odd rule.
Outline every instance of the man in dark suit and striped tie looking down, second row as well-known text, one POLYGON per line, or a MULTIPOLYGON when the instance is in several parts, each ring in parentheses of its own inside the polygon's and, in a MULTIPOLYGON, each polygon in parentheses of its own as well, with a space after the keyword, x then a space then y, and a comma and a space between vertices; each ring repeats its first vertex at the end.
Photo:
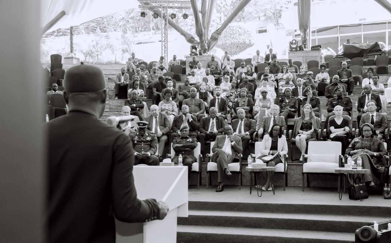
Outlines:
POLYGON ((217 109, 211 107, 209 109, 209 116, 201 119, 199 126, 198 140, 201 144, 201 154, 204 154, 204 142, 205 140, 215 140, 216 136, 219 136, 224 131, 224 119, 217 116, 217 109))

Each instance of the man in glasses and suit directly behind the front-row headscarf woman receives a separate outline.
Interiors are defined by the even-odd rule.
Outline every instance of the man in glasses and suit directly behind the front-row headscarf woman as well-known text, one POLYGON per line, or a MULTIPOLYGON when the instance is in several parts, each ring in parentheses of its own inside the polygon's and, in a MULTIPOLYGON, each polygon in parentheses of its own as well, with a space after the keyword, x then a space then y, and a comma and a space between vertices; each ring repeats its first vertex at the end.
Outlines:
POLYGON ((368 112, 362 115, 359 127, 361 127, 365 122, 372 124, 376 130, 377 138, 382 139, 384 136, 384 131, 387 128, 387 117, 382 113, 376 112, 376 101, 370 100, 367 102, 366 106, 368 112))

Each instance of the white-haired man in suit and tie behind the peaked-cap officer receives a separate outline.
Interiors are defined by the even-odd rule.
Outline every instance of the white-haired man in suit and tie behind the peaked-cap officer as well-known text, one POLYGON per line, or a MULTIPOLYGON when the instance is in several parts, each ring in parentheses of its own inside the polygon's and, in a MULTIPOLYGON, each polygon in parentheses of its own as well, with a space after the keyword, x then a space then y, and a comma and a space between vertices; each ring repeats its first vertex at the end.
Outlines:
POLYGON ((152 114, 145 118, 148 122, 148 130, 158 137, 158 154, 163 155, 164 146, 167 142, 167 135, 171 129, 170 120, 165 113, 159 113, 156 104, 151 105, 152 114))

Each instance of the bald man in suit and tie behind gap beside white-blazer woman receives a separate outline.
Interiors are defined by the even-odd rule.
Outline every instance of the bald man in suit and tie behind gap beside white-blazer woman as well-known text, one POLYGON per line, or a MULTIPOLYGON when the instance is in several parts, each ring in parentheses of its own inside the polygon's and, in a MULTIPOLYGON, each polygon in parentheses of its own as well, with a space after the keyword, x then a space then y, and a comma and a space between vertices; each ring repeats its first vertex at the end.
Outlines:
POLYGON ((242 139, 243 145, 243 158, 247 158, 250 154, 249 142, 251 137, 255 133, 255 120, 251 120, 245 117, 246 113, 243 109, 239 109, 237 112, 239 119, 232 120, 233 135, 242 139))

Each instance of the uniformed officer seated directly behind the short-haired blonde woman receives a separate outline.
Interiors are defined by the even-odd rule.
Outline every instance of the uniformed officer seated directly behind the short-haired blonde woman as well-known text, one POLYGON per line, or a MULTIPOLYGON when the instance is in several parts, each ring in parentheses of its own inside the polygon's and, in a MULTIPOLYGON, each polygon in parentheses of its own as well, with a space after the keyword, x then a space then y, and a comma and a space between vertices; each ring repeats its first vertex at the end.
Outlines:
POLYGON ((327 112, 329 112, 328 116, 326 117, 325 121, 325 129, 327 129, 328 124, 328 118, 335 115, 334 114, 334 107, 337 105, 342 106, 343 113, 342 115, 350 115, 350 112, 352 111, 352 100, 348 96, 344 96, 343 94, 343 86, 337 85, 335 87, 335 96, 331 98, 327 103, 327 112))

